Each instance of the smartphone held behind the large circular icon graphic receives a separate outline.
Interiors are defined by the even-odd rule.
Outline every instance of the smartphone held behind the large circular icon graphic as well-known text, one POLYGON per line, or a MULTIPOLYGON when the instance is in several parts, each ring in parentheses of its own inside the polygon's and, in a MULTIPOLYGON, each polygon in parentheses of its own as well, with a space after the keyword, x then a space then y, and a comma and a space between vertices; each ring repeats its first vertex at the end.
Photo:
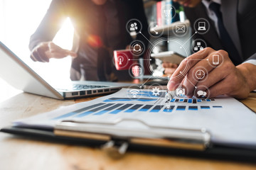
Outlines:
POLYGON ((157 54, 152 53, 151 57, 159 59, 162 62, 171 62, 173 64, 180 64, 181 61, 186 58, 174 51, 159 52, 157 54))

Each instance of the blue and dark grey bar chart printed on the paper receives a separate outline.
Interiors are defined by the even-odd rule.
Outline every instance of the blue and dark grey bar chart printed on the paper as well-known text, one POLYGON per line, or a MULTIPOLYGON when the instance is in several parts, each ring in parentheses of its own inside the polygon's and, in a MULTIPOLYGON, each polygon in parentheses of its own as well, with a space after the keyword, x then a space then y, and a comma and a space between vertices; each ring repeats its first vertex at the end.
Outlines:
POLYGON ((59 120, 63 118, 83 118, 87 115, 117 115, 129 114, 129 113, 181 113, 182 111, 207 111, 210 109, 220 109, 223 106, 215 106, 210 104, 215 99, 196 99, 196 98, 174 98, 169 101, 169 104, 146 104, 149 101, 157 101, 157 98, 107 98, 101 103, 96 103, 92 106, 79 109, 60 115, 53 120, 59 120), (131 101, 140 103, 132 103, 131 101), (129 102, 130 101, 130 102, 129 102), (173 103, 173 104, 172 104, 173 103), (198 105, 200 104, 200 105, 198 105))

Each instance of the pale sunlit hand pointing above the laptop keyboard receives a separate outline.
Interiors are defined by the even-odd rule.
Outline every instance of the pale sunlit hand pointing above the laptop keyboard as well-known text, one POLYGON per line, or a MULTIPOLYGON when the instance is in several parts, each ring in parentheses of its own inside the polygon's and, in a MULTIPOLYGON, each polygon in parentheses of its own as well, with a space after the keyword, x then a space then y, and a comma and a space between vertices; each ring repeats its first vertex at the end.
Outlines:
POLYGON ((70 55, 77 57, 77 54, 70 50, 55 45, 53 42, 41 42, 31 52, 31 59, 36 62, 49 62, 50 58, 61 59, 70 55))

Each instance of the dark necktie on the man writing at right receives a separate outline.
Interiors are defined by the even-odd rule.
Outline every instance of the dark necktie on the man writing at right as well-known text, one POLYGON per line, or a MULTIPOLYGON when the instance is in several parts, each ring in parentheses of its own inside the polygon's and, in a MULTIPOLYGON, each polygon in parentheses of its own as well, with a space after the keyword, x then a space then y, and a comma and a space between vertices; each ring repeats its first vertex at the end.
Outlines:
POLYGON ((220 40, 222 42, 224 50, 228 52, 228 55, 232 60, 233 64, 235 65, 240 64, 242 61, 240 59, 238 50, 236 49, 233 43, 233 40, 230 38, 230 35, 228 34, 228 31, 225 29, 225 26, 223 24, 223 16, 222 16, 222 13, 220 12, 220 4, 212 2, 209 8, 215 13, 215 15, 218 18, 218 29, 220 32, 220 40))

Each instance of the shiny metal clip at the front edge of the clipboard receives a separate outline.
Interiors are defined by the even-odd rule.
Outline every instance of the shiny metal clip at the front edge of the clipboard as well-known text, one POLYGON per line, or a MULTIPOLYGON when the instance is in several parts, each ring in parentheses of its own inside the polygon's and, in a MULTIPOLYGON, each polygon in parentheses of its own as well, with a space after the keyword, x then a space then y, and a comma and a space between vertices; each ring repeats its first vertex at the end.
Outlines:
POLYGON ((102 149, 111 157, 122 157, 129 145, 173 147, 178 149, 205 150, 210 147, 210 132, 206 128, 186 129, 149 125, 143 120, 119 118, 114 122, 63 120, 55 125, 56 136, 105 141, 102 149), (119 123, 132 121, 142 129, 125 128, 119 123))

